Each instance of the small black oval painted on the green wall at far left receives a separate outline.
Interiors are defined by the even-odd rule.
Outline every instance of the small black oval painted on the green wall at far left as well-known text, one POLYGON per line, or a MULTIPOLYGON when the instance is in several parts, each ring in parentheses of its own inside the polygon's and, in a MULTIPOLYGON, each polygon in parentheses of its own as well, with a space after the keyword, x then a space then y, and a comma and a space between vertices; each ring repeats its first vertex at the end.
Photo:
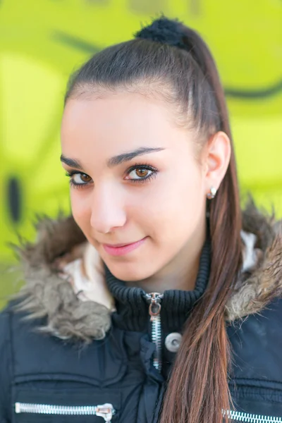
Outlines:
POLYGON ((23 215, 23 190, 20 180, 16 176, 11 176, 8 178, 6 187, 9 216, 13 223, 19 223, 23 215))

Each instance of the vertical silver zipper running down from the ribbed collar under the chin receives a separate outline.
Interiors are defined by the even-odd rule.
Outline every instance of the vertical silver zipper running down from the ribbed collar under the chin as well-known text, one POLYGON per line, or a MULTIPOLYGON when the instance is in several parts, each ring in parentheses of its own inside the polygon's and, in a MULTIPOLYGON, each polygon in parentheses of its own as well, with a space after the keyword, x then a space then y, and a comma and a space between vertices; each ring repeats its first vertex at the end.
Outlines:
POLYGON ((164 295, 159 293, 146 294, 149 301, 149 315, 152 322, 152 341, 156 345, 153 365, 161 372, 161 300, 164 295))

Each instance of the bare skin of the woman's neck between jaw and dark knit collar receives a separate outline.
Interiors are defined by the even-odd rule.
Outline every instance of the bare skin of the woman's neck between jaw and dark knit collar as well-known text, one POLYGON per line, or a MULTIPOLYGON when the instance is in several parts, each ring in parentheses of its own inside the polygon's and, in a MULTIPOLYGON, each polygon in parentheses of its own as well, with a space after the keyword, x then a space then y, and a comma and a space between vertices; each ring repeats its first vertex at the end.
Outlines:
MULTIPOLYGON (((147 293, 164 293, 165 290, 171 289, 194 290, 206 231, 204 225, 200 236, 198 232, 197 239, 193 237, 189 240, 163 269, 149 278, 135 281, 132 286, 142 288, 147 293)), ((131 285, 128 283, 128 286, 131 285)))

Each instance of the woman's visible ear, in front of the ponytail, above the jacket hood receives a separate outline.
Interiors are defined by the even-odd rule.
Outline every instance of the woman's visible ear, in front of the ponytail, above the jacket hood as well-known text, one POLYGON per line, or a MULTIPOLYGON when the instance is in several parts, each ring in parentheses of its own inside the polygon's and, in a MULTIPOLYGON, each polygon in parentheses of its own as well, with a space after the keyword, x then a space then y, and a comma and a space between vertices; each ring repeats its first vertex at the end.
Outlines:
POLYGON ((219 189, 231 157, 231 142, 228 135, 219 131, 212 135, 204 147, 204 178, 205 189, 209 192, 211 187, 219 189))

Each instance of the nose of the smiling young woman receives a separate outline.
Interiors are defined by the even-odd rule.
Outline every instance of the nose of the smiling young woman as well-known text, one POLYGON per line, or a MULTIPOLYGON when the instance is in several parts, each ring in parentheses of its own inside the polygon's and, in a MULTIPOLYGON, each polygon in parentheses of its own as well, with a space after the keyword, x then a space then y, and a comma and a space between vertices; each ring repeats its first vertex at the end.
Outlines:
POLYGON ((109 233, 125 225, 123 196, 114 187, 95 187, 92 199, 91 226, 99 233, 109 233))

